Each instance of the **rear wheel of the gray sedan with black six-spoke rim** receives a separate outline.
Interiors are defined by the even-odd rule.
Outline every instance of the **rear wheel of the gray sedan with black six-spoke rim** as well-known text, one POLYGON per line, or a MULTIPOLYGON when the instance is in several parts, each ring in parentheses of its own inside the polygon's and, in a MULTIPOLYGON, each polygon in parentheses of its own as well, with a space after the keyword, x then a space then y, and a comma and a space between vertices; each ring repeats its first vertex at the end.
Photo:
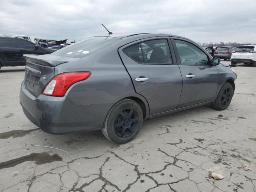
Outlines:
POLYGON ((143 112, 140 105, 134 100, 123 99, 108 112, 102 133, 108 140, 124 144, 136 137, 142 122, 143 112))

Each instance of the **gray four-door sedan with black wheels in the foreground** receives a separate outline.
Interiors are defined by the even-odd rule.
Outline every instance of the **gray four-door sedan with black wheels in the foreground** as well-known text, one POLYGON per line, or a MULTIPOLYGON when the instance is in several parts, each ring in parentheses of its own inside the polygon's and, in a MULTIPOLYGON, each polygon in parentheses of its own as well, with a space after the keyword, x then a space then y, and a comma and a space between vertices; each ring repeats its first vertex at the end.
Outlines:
POLYGON ((147 118, 206 104, 224 110, 235 90, 235 70, 170 34, 96 36, 24 57, 20 104, 52 134, 101 129, 123 144, 147 118))

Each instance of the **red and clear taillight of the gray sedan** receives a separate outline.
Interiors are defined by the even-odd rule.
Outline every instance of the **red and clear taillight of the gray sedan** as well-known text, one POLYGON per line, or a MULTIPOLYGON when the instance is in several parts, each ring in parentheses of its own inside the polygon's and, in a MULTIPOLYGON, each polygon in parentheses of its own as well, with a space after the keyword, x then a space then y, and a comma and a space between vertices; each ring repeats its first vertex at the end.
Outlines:
POLYGON ((91 72, 66 72, 56 75, 45 86, 42 94, 48 96, 62 97, 74 83, 86 80, 91 72))

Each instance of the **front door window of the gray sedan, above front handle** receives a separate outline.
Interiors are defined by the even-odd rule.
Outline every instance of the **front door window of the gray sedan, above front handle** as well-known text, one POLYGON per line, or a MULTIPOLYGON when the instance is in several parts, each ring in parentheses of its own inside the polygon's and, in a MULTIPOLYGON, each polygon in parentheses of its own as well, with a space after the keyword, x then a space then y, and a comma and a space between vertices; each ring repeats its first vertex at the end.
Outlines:
POLYGON ((193 44, 174 40, 182 65, 210 65, 207 55, 193 44))

